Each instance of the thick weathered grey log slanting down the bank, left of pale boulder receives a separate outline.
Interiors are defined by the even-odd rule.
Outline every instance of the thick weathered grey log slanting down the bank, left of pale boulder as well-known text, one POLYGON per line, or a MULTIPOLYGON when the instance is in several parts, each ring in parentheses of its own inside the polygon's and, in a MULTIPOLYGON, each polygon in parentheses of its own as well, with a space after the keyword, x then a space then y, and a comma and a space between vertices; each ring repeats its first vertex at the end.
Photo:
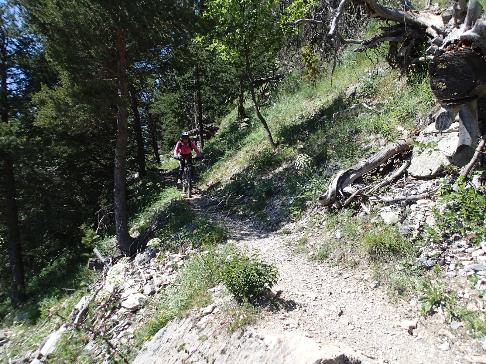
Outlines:
POLYGON ((319 202, 324 206, 330 207, 332 204, 335 204, 337 207, 341 207, 342 203, 337 199, 338 193, 344 198, 344 188, 350 186, 365 173, 379 167, 388 159, 401 152, 412 149, 410 144, 413 143, 413 141, 413 139, 404 139, 400 140, 398 143, 388 144, 368 159, 364 159, 352 167, 340 171, 331 181, 326 194, 319 195, 319 202))

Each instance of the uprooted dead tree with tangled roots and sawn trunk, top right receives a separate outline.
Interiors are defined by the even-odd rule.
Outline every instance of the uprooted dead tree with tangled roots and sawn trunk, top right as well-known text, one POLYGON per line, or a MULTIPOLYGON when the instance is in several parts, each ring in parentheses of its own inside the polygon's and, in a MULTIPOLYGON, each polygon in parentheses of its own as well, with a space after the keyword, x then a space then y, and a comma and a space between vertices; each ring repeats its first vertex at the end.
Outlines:
MULTIPOLYGON (((405 3, 406 4, 406 3, 405 3)), ((402 6, 403 9, 410 9, 402 6)), ((454 164, 467 165, 479 138, 477 100, 486 95, 486 22, 477 0, 458 0, 436 14, 429 10, 401 10, 379 4, 376 0, 342 0, 330 25, 315 19, 298 19, 284 25, 314 24, 323 27, 336 43, 359 44, 365 51, 389 42, 387 61, 395 68, 410 71, 414 65, 429 62, 431 89, 442 106, 436 116, 436 129, 449 128, 459 114, 459 143, 452 157, 454 164), (349 4, 364 5, 368 17, 395 25, 365 40, 346 39, 338 24, 349 4), (428 56, 420 49, 428 45, 428 56)))

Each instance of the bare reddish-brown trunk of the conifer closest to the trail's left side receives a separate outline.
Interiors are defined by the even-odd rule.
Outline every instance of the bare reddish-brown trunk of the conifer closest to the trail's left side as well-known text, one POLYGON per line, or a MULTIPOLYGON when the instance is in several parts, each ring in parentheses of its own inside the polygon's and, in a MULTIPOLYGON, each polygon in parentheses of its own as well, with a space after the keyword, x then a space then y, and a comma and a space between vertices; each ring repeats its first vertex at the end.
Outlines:
POLYGON ((117 63, 118 63, 118 123, 117 145, 115 148, 115 223, 117 229, 117 244, 124 253, 132 255, 135 247, 132 247, 133 238, 128 233, 126 216, 126 132, 127 132, 127 91, 126 91, 126 64, 125 64, 125 40, 122 31, 119 30, 117 39, 117 63))

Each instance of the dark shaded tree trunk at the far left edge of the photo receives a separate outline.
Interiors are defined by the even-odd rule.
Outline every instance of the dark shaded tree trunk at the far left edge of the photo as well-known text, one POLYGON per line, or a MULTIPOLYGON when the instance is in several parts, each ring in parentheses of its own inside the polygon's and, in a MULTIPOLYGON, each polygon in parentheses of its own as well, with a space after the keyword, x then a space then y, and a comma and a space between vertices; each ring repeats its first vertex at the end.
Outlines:
MULTIPOLYGON (((8 125, 8 75, 6 36, 2 34, 0 43, 0 110, 1 121, 8 125)), ((15 187, 14 162, 8 151, 0 150, 3 157, 5 176, 5 226, 7 228, 8 257, 12 272, 12 304, 17 306, 25 300, 24 266, 22 262, 22 241, 18 227, 17 190, 15 187)))

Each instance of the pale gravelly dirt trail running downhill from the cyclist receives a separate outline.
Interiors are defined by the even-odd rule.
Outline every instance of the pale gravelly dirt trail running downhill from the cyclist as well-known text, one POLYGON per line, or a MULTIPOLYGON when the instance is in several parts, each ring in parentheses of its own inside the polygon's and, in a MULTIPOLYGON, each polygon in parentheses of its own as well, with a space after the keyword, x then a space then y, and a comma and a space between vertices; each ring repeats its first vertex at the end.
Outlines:
MULTIPOLYGON (((212 204, 200 194, 189 202, 199 213, 212 204)), ((238 247, 250 253, 259 250, 266 261, 278 266, 278 288, 283 291, 279 298, 286 308, 266 311, 256 330, 298 331, 323 345, 351 347, 383 363, 470 363, 468 356, 484 355, 479 342, 465 335, 464 327, 452 330, 439 314, 424 319, 414 299, 391 302, 372 283, 367 266, 343 269, 330 266, 329 261, 309 261, 306 255, 293 255, 285 244, 302 236, 297 232, 283 235, 265 231, 252 219, 242 221, 221 213, 216 217, 225 219, 230 239, 238 247), (417 328, 400 327, 405 324, 402 320, 417 321, 417 328)), ((318 234, 313 238, 319 239, 318 234)))

